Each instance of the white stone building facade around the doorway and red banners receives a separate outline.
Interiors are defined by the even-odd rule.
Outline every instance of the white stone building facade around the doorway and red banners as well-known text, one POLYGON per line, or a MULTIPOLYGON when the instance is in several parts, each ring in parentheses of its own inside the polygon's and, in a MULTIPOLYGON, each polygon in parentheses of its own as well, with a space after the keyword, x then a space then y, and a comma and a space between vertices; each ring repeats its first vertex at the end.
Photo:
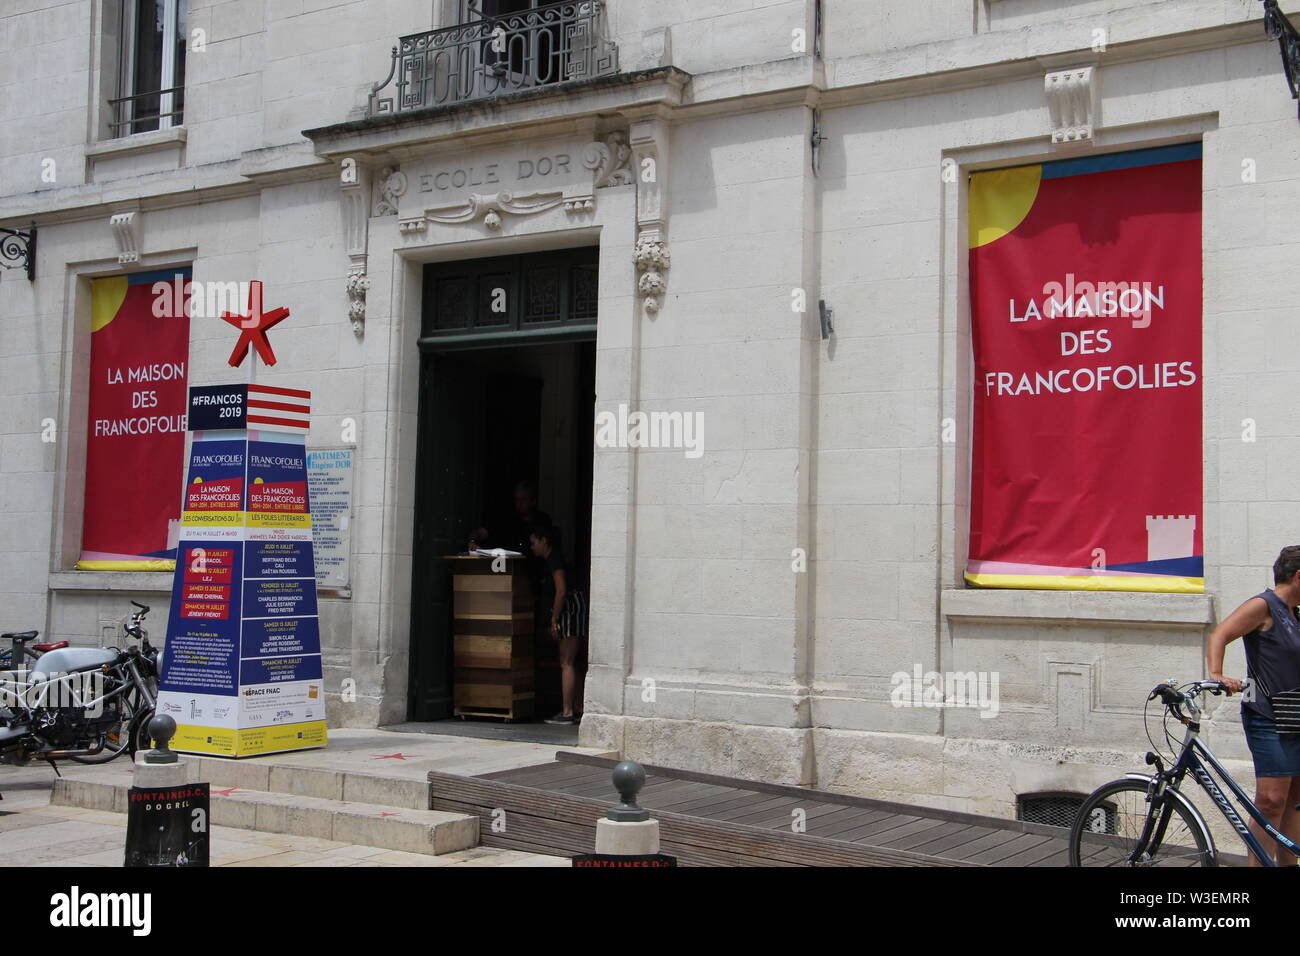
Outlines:
MULTIPOLYGON (((5 628, 99 643, 170 587, 72 570, 90 277, 256 277, 292 310, 259 381, 312 389, 309 444, 358 425, 352 588, 321 626, 328 683, 359 698, 332 696, 332 721, 406 719, 420 267, 598 243, 597 411, 702 412, 706 450, 595 450, 584 744, 997 814, 1138 769, 1145 692, 1202 676, 1212 622, 1300 541, 1300 122, 1278 44, 1254 0, 820 5, 816 56, 812 0, 610 0, 614 77, 367 120, 396 38, 454 22, 452 0, 190 0, 183 125, 112 139, 116 0, 6 4, 0 225, 35 222, 39 247, 35 282, 0 276, 5 628), (1187 139, 1206 594, 966 589, 965 173, 1187 139), (614 160, 584 165, 593 143, 614 160), (528 208, 472 172, 421 187, 558 155, 528 208), (998 717, 892 706, 914 666, 998 672, 998 717)), ((229 332, 194 321, 191 382, 222 378, 229 332)), ((1212 740, 1242 761, 1223 713, 1212 740)))

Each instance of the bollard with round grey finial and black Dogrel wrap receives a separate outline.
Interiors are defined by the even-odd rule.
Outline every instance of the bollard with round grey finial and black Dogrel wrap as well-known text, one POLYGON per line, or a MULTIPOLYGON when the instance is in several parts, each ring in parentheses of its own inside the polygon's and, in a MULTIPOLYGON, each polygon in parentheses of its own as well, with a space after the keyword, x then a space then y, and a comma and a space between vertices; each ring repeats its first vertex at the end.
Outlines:
POLYGON ((190 783, 190 765, 168 744, 176 721, 150 721, 152 750, 135 754, 126 804, 126 866, 207 866, 209 790, 190 783))

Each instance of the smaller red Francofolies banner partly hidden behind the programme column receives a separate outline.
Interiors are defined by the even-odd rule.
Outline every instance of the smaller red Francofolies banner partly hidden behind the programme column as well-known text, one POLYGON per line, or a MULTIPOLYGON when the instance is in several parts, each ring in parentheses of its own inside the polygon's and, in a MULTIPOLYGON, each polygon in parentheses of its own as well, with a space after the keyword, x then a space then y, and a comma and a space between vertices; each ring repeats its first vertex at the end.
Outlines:
POLYGON ((170 571, 185 460, 190 271, 91 280, 82 571, 170 571), (179 274, 179 280, 177 276, 179 274), (179 287, 155 295, 156 282, 179 287), (170 532, 170 535, 169 535, 170 532))

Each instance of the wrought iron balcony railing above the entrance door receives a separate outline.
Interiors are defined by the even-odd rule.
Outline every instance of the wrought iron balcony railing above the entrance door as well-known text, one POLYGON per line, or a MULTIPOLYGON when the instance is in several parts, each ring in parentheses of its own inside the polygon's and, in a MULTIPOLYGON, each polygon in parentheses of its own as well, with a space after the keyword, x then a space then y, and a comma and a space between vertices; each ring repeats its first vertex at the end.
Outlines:
POLYGON ((618 73, 619 49, 604 29, 602 0, 575 0, 402 36, 389 75, 370 92, 368 114, 618 73))

